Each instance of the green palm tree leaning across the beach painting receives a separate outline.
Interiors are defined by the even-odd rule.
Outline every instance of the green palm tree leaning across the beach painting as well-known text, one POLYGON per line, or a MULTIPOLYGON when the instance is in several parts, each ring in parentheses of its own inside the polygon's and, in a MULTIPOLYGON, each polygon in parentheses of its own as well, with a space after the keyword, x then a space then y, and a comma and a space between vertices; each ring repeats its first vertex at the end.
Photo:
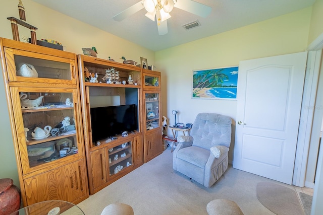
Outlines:
POLYGON ((224 81, 228 81, 229 77, 222 73, 223 70, 224 69, 194 71, 193 97, 199 97, 197 93, 204 88, 221 87, 224 81))

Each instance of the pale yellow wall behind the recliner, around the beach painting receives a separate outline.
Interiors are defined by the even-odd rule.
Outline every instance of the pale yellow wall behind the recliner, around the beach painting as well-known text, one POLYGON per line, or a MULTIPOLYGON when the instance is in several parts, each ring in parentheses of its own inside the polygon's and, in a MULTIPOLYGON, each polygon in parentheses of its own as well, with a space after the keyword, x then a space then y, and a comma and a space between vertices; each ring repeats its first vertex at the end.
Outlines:
MULTIPOLYGON (((170 119, 171 125, 175 122, 173 109, 179 111, 177 122, 193 123, 199 112, 216 112, 236 120, 236 100, 191 98, 192 70, 239 65, 240 60, 304 51, 310 18, 311 8, 306 8, 156 52, 156 66, 163 71, 163 115, 170 119)), ((230 148, 232 161, 233 144, 230 148)))

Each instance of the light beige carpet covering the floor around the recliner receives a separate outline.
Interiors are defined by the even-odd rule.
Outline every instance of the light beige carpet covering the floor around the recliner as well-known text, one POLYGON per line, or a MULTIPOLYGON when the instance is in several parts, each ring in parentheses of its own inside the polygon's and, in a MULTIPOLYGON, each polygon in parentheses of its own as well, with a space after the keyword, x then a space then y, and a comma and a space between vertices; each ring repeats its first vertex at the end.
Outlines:
POLYGON ((275 182, 273 180, 230 165, 213 186, 205 188, 174 171, 172 165, 173 153, 168 148, 78 206, 86 215, 99 215, 106 205, 114 202, 131 205, 135 215, 207 215, 207 203, 224 198, 235 201, 245 215, 275 215, 256 195, 259 182, 275 182))

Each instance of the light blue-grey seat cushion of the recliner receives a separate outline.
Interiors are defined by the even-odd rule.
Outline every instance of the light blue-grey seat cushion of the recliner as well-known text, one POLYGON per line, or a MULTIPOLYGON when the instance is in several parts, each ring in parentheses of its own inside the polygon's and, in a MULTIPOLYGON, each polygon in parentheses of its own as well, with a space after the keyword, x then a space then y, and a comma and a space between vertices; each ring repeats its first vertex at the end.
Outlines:
POLYGON ((205 164, 210 156, 210 151, 200 147, 186 147, 181 149, 177 153, 177 158, 194 164, 202 169, 205 168, 205 164))

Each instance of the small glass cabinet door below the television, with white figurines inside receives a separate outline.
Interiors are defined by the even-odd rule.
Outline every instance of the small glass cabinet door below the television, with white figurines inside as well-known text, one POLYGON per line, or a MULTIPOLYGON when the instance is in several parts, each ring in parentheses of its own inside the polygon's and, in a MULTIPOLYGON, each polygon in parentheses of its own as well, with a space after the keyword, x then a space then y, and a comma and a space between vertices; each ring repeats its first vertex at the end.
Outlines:
POLYGON ((132 166, 132 142, 109 148, 109 175, 113 176, 132 166))

